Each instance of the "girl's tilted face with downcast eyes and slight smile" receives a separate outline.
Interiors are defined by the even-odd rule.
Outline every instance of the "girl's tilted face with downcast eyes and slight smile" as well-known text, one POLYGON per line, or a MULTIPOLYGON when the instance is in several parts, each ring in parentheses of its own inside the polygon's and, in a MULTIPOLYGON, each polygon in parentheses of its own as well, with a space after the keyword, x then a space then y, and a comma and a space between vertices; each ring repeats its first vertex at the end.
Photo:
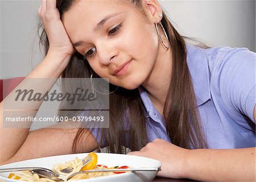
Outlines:
POLYGON ((159 52, 150 12, 145 16, 123 1, 83 0, 64 13, 63 24, 75 49, 97 75, 135 89, 150 77, 159 52))

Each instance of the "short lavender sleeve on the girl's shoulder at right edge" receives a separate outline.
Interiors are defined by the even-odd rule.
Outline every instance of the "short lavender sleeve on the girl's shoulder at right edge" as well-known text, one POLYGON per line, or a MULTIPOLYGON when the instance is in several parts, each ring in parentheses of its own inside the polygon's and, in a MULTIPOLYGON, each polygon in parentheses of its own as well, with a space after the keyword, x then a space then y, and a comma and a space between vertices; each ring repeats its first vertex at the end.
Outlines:
POLYGON ((233 48, 218 61, 216 69, 226 109, 237 119, 246 115, 254 122, 255 61, 255 52, 247 48, 233 48))

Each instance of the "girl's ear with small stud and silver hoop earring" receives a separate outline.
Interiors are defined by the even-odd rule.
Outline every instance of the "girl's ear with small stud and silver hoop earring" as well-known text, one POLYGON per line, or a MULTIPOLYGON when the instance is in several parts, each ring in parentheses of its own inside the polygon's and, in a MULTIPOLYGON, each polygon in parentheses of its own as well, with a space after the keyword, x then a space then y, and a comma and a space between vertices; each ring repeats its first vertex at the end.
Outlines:
POLYGON ((162 17, 159 14, 163 14, 163 11, 157 0, 142 0, 143 7, 146 14, 152 23, 159 23, 162 17))

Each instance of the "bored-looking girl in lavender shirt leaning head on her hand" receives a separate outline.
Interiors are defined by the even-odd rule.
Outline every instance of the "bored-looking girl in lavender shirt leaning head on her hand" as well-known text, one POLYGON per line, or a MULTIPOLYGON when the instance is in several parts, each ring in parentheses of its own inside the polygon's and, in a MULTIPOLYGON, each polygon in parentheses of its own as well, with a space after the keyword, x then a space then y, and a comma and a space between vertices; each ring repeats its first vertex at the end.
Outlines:
POLYGON ((159 176, 255 181, 254 52, 188 44, 156 0, 42 0, 38 13, 47 54, 27 78, 109 78, 110 127, 3 128, 2 163, 125 145, 162 161, 159 176))

